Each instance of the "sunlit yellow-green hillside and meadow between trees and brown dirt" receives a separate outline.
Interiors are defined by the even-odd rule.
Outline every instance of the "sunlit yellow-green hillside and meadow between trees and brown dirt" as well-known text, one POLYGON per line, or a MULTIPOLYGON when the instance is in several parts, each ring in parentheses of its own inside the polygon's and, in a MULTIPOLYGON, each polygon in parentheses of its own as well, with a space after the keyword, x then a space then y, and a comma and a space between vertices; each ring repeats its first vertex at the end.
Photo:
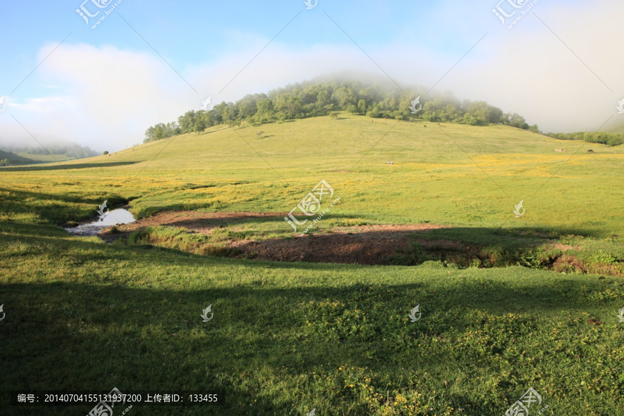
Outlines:
POLYGON ((139 217, 161 209, 284 212, 324 179, 343 196, 332 213, 343 218, 624 234, 623 146, 499 125, 424 125, 343 115, 221 126, 61 166, 3 172, 19 172, 7 175, 15 187, 36 180, 45 193, 86 194, 73 209, 88 214, 113 196, 135 198, 139 217), (62 169, 67 175, 59 180, 62 169), (520 200, 526 215, 514 218, 520 200))

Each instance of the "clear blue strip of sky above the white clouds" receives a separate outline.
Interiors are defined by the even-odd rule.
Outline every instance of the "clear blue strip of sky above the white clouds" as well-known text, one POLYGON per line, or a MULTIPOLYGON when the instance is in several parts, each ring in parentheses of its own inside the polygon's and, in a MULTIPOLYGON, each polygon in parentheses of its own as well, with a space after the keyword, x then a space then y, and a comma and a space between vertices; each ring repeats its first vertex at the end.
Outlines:
MULTIPOLYGON (((38 64, 37 52, 42 44, 57 45, 67 35, 67 44, 112 44, 119 49, 153 52, 118 16, 107 17, 95 30, 90 29, 74 11, 80 3, 81 0, 63 0, 28 7, 19 2, 0 3, 0 26, 12 38, 12 42, 1 46, 3 60, 11 62, 0 68, 2 91, 12 90, 38 64)), ((295 16, 279 35, 279 42, 295 48, 352 44, 324 11, 363 46, 383 47, 401 38, 421 38, 424 33, 435 33, 435 36, 426 35, 427 43, 433 48, 458 56, 474 44, 475 37, 464 37, 462 28, 455 24, 427 18, 444 10, 439 4, 397 1, 390 5, 372 0, 323 3, 321 0, 317 7, 306 10, 301 0, 211 0, 184 1, 183 4, 162 0, 123 0, 114 13, 123 16, 178 71, 189 65, 213 62, 241 46, 241 42, 248 42, 249 38, 270 40, 295 16)), ((85 7, 92 13, 98 10, 90 1, 85 7)), ((492 24, 497 24, 495 19, 492 24)), ((485 33, 478 27, 474 30, 475 34, 485 33)), ((36 83, 31 81, 21 85, 19 92, 34 94, 36 88, 36 83)))

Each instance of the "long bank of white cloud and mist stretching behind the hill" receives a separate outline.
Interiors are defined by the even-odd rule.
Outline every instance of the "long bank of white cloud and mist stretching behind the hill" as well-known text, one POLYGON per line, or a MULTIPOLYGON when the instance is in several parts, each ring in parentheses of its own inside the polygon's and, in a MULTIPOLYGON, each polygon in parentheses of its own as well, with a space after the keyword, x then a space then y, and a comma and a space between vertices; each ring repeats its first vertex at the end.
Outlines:
MULTIPOLYGON (((546 131, 593 130, 616 114, 615 105, 624 96, 620 76, 624 51, 616 48, 621 37, 618 19, 605 18, 605 10, 611 16, 621 15, 624 3, 598 0, 561 8, 540 1, 533 9, 613 93, 532 13, 507 30, 489 10, 449 7, 441 8, 436 19, 442 19, 444 27, 460 28, 466 51, 486 31, 488 35, 444 77, 437 90, 450 89, 460 99, 483 99, 518 112, 546 131)), ((401 85, 431 86, 463 54, 458 47, 449 48, 452 53, 437 50, 425 33, 401 39, 363 45, 401 85)), ((308 48, 286 41, 278 37, 249 64, 268 39, 233 33, 226 49, 231 52, 206 64, 176 68, 197 92, 151 51, 63 44, 37 70, 42 85, 55 86, 47 92, 58 95, 22 103, 8 97, 0 128, 5 137, 32 141, 10 117, 13 114, 41 141, 70 139, 96 150, 114 151, 142 141, 149 125, 199 110, 209 95, 213 103, 235 101, 245 94, 341 71, 384 76, 346 37, 308 48)), ((38 58, 43 59, 53 47, 43 47, 38 58)), ((609 125, 622 122, 616 114, 609 125)))

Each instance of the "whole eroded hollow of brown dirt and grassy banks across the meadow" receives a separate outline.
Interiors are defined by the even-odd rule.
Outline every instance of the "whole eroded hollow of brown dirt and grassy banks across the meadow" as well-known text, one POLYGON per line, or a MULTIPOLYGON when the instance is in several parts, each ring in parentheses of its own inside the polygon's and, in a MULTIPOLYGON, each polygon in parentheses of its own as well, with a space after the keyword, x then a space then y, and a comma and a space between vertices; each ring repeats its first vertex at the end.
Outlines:
POLYGON ((536 236, 535 232, 501 234, 499 230, 430 223, 347 225, 363 220, 333 218, 300 236, 286 225, 286 215, 163 211, 98 235, 110 243, 125 241, 243 259, 397 266, 440 261, 459 267, 526 266, 564 273, 624 274, 621 257, 609 261, 582 257, 581 246, 536 236))

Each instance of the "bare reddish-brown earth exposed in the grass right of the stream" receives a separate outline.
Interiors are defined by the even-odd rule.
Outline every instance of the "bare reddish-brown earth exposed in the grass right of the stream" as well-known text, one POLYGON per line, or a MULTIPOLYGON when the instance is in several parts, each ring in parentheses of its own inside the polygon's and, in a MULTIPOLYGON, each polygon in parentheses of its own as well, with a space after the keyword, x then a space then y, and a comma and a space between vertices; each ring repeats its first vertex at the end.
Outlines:
MULTIPOLYGON (((197 212, 163 211, 135 223, 119 225, 117 232, 98 234, 105 241, 112 243, 116 239, 128 239, 130 233, 154 226, 170 226, 186 229, 188 232, 211 234, 218 227, 236 230, 236 222, 268 218, 283 220, 286 213, 257 212, 197 212)), ((482 247, 466 245, 461 241, 431 239, 426 234, 433 229, 447 228, 444 225, 360 225, 351 227, 333 227, 317 234, 289 234, 278 239, 228 239, 213 243, 198 243, 192 250, 197 254, 225 255, 270 261, 306 261, 315 263, 357 263, 387 264, 388 257, 406 254, 412 243, 418 243, 434 258, 445 259, 451 263, 466 264, 467 261, 479 260, 490 264, 494 259, 487 259, 481 252, 482 247)), ((155 242, 158 245, 157 242, 155 242)), ((581 250, 578 246, 551 242, 551 247, 562 251, 581 250)), ((483 266, 483 265, 481 265, 483 266)), ((487 266, 485 266, 487 267, 487 266)), ((557 272, 593 272, 606 275, 621 275, 621 271, 610 264, 589 266, 580 261, 573 253, 561 254, 552 260, 547 268, 557 272)))

